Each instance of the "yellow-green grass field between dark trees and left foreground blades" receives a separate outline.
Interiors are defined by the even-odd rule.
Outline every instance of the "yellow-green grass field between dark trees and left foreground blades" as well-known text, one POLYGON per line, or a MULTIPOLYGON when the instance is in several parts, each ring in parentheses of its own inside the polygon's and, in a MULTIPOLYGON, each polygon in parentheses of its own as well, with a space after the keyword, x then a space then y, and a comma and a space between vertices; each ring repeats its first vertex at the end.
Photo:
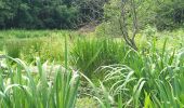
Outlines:
POLYGON ((64 37, 74 40, 81 35, 67 30, 1 30, 0 51, 14 58, 35 63, 35 56, 41 62, 64 62, 64 37))

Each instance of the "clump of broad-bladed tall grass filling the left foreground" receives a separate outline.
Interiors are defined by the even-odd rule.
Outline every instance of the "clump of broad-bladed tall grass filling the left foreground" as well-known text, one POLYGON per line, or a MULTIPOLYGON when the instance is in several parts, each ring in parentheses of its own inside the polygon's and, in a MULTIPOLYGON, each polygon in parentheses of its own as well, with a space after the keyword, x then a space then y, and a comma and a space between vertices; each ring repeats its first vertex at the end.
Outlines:
POLYGON ((48 70, 40 59, 37 59, 38 73, 32 76, 28 65, 18 58, 6 56, 16 65, 6 70, 0 68, 0 107, 75 108, 79 75, 67 68, 67 51, 65 52, 65 69, 60 67, 50 70, 54 79, 48 79, 48 70), (3 71, 9 76, 4 77, 3 71))

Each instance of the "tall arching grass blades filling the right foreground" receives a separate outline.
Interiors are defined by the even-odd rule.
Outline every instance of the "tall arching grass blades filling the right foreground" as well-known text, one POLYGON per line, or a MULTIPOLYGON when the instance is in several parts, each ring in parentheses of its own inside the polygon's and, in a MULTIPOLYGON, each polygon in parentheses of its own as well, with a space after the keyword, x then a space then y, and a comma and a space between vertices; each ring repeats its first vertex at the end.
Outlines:
MULTIPOLYGON (((104 108, 111 108, 109 98, 111 96, 115 97, 118 108, 184 107, 184 51, 182 49, 169 53, 166 46, 167 41, 161 51, 156 51, 153 45, 146 55, 134 53, 129 62, 137 64, 135 66, 129 64, 103 66, 106 76, 101 90, 105 97, 96 95, 100 104, 104 108), (139 60, 134 59, 139 56, 139 60), (136 66, 140 66, 140 69, 136 66)), ((88 78, 86 79, 90 82, 88 78)))

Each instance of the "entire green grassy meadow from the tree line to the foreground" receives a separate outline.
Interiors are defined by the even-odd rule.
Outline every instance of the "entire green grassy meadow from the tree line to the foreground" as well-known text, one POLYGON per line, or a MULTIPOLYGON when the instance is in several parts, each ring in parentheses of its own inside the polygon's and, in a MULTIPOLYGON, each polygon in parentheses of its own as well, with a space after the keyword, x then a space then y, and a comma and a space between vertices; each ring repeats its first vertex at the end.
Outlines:
POLYGON ((139 51, 97 35, 1 30, 0 107, 184 107, 184 30, 143 30, 139 51))

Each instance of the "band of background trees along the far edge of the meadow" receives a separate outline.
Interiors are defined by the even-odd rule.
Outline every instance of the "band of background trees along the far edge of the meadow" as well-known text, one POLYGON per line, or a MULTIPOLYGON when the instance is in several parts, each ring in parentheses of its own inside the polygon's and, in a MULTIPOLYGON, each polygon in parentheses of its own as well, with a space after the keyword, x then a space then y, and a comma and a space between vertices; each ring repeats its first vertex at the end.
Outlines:
MULTIPOLYGON (((116 22, 120 12, 119 2, 124 1, 0 0, 0 29, 68 29, 78 28, 91 21, 116 22)), ((149 24, 162 30, 184 25, 183 0, 135 0, 135 3, 142 27, 149 24)))

